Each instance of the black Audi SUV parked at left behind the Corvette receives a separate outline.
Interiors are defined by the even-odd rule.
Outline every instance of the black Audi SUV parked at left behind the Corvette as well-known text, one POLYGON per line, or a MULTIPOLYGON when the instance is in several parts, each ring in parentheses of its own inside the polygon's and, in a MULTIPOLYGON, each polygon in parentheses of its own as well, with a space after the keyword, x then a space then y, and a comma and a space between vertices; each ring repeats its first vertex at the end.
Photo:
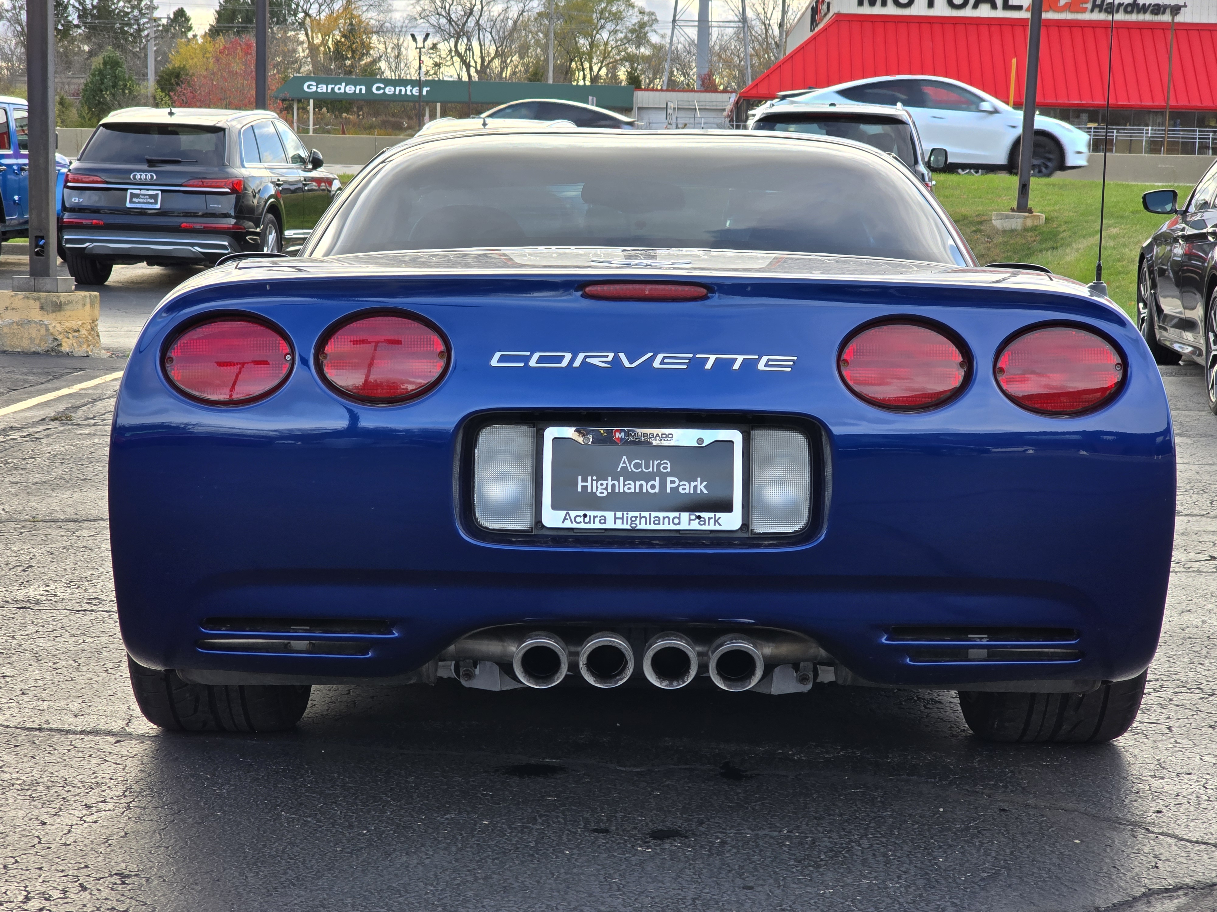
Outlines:
POLYGON ((269 111, 116 111, 68 169, 60 255, 102 285, 116 263, 295 253, 341 190, 324 164, 269 111))

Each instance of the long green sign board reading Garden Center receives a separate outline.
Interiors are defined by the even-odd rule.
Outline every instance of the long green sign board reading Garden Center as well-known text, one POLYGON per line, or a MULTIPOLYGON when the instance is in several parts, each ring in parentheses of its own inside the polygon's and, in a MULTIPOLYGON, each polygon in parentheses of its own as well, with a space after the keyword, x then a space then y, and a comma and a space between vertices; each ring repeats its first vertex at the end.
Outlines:
MULTIPOLYGON (((579 101, 617 111, 632 111, 632 85, 567 85, 565 83, 466 83, 459 79, 424 79, 424 102, 505 105, 522 98, 579 101)), ((417 79, 369 79, 365 77, 292 77, 279 86, 280 101, 419 101, 417 79)))

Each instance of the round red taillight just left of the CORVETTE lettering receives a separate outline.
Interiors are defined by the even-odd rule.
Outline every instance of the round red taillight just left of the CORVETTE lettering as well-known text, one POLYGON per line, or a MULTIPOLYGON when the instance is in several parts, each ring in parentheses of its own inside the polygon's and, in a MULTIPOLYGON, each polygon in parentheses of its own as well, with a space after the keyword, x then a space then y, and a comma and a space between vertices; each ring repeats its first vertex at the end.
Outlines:
POLYGON ((318 360, 326 379, 343 393, 400 402, 439 381, 448 366, 448 345, 426 323, 378 314, 335 330, 318 360))

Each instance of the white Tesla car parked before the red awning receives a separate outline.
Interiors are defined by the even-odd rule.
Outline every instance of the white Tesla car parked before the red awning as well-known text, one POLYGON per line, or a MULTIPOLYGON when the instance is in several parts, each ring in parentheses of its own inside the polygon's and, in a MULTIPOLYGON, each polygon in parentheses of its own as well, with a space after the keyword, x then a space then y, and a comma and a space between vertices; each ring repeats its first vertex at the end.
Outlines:
MULTIPOLYGON (((804 94, 783 94, 763 109, 790 103, 903 105, 916 122, 926 148, 947 150, 952 168, 1017 170, 1022 112, 954 79, 896 75, 858 79, 804 94)), ((1090 139, 1075 126, 1036 114, 1031 173, 1047 178, 1082 168, 1089 161, 1090 139)))

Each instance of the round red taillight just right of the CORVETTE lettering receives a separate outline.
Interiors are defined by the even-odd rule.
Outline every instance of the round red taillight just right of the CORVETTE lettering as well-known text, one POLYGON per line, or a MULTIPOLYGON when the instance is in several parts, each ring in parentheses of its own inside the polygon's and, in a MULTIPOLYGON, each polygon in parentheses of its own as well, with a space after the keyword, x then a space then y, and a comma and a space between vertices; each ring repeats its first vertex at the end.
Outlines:
POLYGON ((968 377, 968 359, 941 332, 916 323, 863 330, 841 351, 841 377, 863 401, 914 411, 942 405, 968 377))

